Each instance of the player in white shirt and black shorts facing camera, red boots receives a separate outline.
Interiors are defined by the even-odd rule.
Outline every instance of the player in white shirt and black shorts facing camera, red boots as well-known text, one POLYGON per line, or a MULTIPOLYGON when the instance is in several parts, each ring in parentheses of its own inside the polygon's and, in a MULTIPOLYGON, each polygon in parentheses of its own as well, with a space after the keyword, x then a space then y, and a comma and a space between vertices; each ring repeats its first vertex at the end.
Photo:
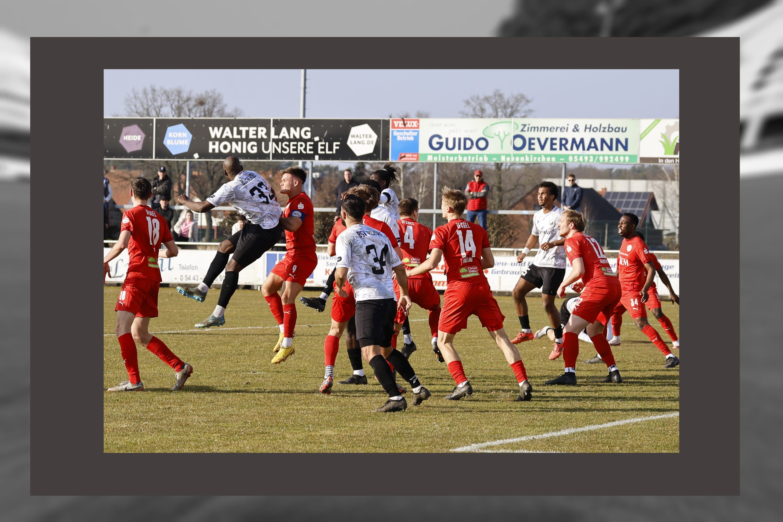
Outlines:
MULTIPOLYGON (((520 275, 514 291, 514 307, 517 309, 521 331, 511 344, 519 344, 526 340, 532 340, 535 335, 530 329, 528 317, 528 303, 525 296, 534 288, 541 289, 541 301, 544 311, 547 312, 550 324, 554 329, 554 347, 557 355, 562 353, 563 329, 560 326, 560 315, 554 305, 554 293, 565 277, 565 239, 557 232, 558 223, 562 214, 561 208, 554 204, 557 199, 557 185, 553 182, 543 182, 539 185, 537 194, 541 210, 533 214, 533 226, 530 237, 522 253, 518 255, 517 262, 521 263, 532 247, 539 243, 539 250, 532 261, 528 271, 520 275)), ((553 351, 554 353, 554 351, 553 351)), ((552 358, 552 357, 550 357, 552 358)))

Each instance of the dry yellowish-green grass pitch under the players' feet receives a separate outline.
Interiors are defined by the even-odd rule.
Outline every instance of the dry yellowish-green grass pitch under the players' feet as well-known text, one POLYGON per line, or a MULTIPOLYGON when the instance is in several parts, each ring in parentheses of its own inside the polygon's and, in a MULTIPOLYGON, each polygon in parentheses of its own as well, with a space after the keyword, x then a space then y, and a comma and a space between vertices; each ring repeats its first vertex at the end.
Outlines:
MULTIPOLYGON (((103 293, 104 390, 128 379, 114 336, 118 292, 119 287, 106 286, 103 293)), ((226 326, 193 328, 211 314, 218 292, 211 290, 200 304, 175 288, 161 288, 161 316, 150 321, 150 332, 193 365, 193 376, 182 391, 170 391, 174 370, 139 347, 145 391, 104 391, 105 452, 449 452, 470 445, 478 446, 467 451, 679 452, 680 369, 663 368, 663 355, 627 314, 622 345, 612 348, 621 384, 603 382, 605 365, 581 364, 595 351, 592 344, 579 341, 576 387, 545 386, 544 380, 563 372, 563 359, 547 358, 547 338, 518 344, 533 386, 529 402, 514 401, 514 372, 478 319, 471 318, 467 329, 457 334, 455 347, 474 395, 448 401, 444 397, 452 391, 453 380, 431 352, 427 312, 413 305, 411 330, 418 350, 410 362, 432 397, 414 407, 409 390, 406 412, 381 414, 370 410, 387 397, 366 363, 368 385, 335 383, 330 396, 318 393, 331 300, 322 313, 297 303, 296 352, 272 365, 279 330, 261 292, 237 290, 226 311, 226 326), (642 420, 598 427, 628 419, 642 420), (561 430, 568 431, 554 433, 561 430), (532 438, 535 435, 546 437, 532 438), (481 446, 508 439, 522 440, 481 446)), ((497 301, 513 338, 519 331, 514 303, 511 297, 497 301)), ((561 302, 557 299, 558 309, 561 302)), ((538 296, 528 298, 534 331, 546 321, 540 303, 538 296)), ((663 311, 679 333, 678 305, 664 302, 663 311)), ((658 322, 649 318, 666 339, 658 322)), ((335 373, 335 381, 351 374, 344 340, 335 373)))

